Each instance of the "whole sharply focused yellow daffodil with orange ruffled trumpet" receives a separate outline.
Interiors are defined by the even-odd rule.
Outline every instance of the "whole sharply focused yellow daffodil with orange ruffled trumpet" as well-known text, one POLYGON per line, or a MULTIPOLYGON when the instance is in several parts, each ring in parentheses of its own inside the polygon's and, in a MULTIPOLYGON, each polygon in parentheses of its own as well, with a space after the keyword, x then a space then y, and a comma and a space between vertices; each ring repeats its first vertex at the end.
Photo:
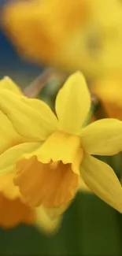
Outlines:
POLYGON ((109 165, 92 156, 113 155, 122 149, 122 122, 102 119, 83 128, 90 107, 91 96, 80 72, 69 76, 58 92, 56 115, 39 99, 0 91, 0 109, 29 141, 0 156, 1 173, 15 173, 14 184, 25 202, 42 205, 52 217, 72 202, 81 179, 122 212, 119 180, 109 165))

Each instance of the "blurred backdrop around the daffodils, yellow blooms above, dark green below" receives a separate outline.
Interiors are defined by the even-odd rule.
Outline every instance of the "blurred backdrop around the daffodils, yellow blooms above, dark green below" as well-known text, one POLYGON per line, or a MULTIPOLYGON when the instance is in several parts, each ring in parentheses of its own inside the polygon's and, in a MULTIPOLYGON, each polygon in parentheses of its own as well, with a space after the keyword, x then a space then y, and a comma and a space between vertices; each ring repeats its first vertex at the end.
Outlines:
MULTIPOLYGON (((0 0, 0 20, 0 79, 9 76, 54 109, 59 87, 80 70, 91 91, 91 121, 122 120, 120 0, 0 0)), ((102 160, 121 178, 121 154, 102 160)), ((1 228, 0 255, 122 255, 121 214, 87 189, 59 228, 50 232, 45 225, 1 228)))

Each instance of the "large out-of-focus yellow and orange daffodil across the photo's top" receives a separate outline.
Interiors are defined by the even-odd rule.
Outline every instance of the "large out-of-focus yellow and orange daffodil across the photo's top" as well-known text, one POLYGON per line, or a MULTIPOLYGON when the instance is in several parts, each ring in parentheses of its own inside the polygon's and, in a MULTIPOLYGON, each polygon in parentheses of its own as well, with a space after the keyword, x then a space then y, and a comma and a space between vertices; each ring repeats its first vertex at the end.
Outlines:
POLYGON ((116 0, 8 3, 2 24, 20 55, 98 76, 122 69, 122 6, 116 0), (109 12, 108 12, 109 9, 109 12))

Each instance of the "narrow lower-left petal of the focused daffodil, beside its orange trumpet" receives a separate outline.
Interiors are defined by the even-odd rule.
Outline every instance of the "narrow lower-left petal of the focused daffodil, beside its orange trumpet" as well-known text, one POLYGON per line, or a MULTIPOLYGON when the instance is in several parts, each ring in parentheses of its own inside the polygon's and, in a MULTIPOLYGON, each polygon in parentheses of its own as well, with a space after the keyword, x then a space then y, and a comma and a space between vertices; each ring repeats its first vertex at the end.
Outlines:
POLYGON ((31 153, 31 151, 37 149, 39 146, 40 143, 21 143, 6 150, 0 155, 0 174, 12 173, 16 161, 20 158, 21 154, 31 153))

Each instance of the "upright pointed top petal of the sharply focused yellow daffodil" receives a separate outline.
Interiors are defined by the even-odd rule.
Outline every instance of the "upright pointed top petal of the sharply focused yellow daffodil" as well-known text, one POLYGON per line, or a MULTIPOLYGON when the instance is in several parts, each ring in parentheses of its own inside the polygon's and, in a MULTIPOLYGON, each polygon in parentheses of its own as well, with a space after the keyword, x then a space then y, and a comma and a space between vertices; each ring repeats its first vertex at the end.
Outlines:
POLYGON ((61 129, 79 133, 91 106, 91 96, 87 83, 80 72, 69 76, 57 94, 56 112, 61 129))

